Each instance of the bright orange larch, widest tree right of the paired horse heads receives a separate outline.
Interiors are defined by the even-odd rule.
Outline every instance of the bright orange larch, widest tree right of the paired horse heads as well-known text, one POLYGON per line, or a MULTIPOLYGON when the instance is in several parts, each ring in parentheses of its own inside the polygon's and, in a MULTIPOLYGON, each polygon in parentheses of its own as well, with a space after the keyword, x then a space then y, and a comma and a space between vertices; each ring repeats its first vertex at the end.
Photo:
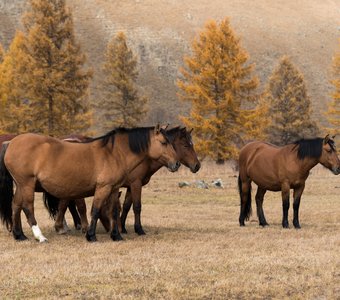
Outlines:
MULTIPOLYGON (((254 102, 258 79, 254 65, 241 47, 228 19, 210 21, 192 44, 186 57, 183 78, 178 80, 179 97, 192 104, 190 115, 182 117, 193 128, 195 148, 201 156, 217 163, 235 158, 242 144, 245 124, 254 114, 245 114, 245 101, 254 102)), ((255 113, 255 111, 253 111, 255 113)))

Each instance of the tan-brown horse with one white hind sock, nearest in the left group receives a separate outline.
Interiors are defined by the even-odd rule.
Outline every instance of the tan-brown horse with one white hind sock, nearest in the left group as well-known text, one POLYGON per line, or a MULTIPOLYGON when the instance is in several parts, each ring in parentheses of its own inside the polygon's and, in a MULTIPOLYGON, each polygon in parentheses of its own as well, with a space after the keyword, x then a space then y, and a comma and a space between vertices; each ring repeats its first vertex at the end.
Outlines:
MULTIPOLYGON (((16 240, 25 240, 21 225, 24 211, 35 239, 45 242, 34 216, 34 191, 39 188, 59 199, 94 196, 86 239, 97 240, 99 211, 106 199, 112 199, 126 174, 144 159, 152 158, 172 172, 180 163, 169 137, 156 127, 117 128, 84 143, 68 143, 56 138, 26 133, 2 148, 0 155, 0 217, 11 227, 16 240), (72 162, 72 163, 70 163, 72 162), (13 188, 8 183, 16 183, 13 188)), ((116 221, 115 219, 113 220, 116 221)), ((117 222, 111 238, 119 239, 117 222)))

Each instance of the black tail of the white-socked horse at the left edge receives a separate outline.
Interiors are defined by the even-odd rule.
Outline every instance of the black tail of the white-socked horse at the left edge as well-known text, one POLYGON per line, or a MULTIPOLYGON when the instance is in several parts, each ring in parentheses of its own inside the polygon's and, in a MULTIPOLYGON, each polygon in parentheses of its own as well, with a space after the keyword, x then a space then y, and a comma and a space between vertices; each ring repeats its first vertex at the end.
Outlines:
POLYGON ((8 231, 12 230, 13 178, 8 172, 4 158, 8 147, 3 144, 0 152, 0 219, 8 231))

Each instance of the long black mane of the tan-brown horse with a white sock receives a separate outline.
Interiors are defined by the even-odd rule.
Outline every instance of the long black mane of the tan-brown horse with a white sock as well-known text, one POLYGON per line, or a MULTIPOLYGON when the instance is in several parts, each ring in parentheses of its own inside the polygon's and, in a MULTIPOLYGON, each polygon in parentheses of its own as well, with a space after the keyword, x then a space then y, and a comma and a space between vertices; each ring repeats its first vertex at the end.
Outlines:
POLYGON ((147 151, 150 144, 150 131, 154 127, 137 127, 137 128, 115 128, 105 135, 93 138, 84 143, 91 143, 93 141, 101 140, 101 146, 105 147, 107 144, 111 143, 112 147, 115 143, 116 134, 127 134, 129 138, 129 147, 131 151, 135 154, 147 151))

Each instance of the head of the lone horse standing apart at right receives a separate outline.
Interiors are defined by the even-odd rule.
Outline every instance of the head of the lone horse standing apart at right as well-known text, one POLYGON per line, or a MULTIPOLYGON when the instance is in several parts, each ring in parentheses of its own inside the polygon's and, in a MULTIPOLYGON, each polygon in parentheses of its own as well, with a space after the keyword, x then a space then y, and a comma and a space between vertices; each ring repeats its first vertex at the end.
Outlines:
POLYGON ((320 163, 331 170, 335 175, 338 175, 340 174, 340 160, 336 153, 336 147, 333 138, 327 134, 323 139, 320 163))

